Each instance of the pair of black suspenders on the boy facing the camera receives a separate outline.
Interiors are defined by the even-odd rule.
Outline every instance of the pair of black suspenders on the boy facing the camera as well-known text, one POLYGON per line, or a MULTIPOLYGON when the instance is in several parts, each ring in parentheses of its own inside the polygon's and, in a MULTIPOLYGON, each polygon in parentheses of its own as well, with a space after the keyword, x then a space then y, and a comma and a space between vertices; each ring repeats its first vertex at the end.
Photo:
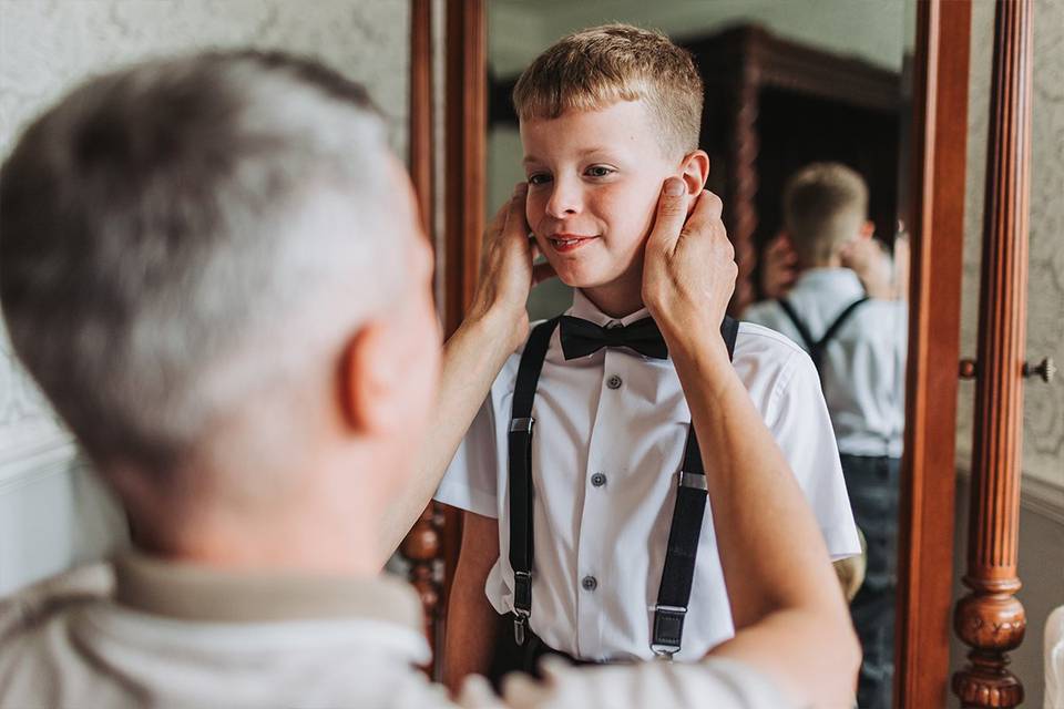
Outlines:
MULTIPOLYGON (((510 420, 510 566, 514 578, 513 633, 519 646, 524 645, 529 615, 532 613, 532 402, 557 320, 548 320, 532 329, 518 367, 510 420)), ((720 335, 728 347, 729 358, 735 350, 738 330, 738 321, 725 317, 720 335)), ((706 511, 706 473, 694 427, 688 429, 684 461, 676 481, 676 506, 668 531, 665 567, 651 633, 651 649, 655 655, 667 658, 681 648, 706 511)))

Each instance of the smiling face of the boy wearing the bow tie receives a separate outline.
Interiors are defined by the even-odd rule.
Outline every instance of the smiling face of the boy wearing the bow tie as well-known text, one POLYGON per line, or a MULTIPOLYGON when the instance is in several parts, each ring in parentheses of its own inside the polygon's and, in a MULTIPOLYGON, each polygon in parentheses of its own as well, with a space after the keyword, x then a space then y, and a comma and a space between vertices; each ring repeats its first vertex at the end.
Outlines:
POLYGON ((642 101, 521 122, 529 225, 566 285, 642 284, 662 184, 678 172, 657 133, 642 101))

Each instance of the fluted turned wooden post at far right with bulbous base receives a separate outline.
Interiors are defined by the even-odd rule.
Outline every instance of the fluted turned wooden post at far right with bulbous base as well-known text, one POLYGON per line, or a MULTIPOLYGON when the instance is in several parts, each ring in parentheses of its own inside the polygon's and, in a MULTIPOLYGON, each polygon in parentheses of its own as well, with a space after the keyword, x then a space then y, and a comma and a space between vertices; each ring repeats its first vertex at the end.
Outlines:
POLYGON ((1023 685, 1007 653, 1026 618, 1015 597, 1023 435, 1031 155, 1031 2, 996 7, 968 574, 954 628, 972 650, 953 676, 963 707, 1016 707, 1023 685))

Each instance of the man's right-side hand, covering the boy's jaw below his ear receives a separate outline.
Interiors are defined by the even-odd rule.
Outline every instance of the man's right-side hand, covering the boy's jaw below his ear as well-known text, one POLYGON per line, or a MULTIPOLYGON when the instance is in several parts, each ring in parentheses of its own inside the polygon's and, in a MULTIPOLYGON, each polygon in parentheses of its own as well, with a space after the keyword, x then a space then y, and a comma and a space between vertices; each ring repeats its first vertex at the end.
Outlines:
POLYGON ((687 332, 717 331, 738 274, 720 198, 703 191, 693 210, 689 202, 681 179, 666 179, 646 243, 643 302, 669 342, 687 332))

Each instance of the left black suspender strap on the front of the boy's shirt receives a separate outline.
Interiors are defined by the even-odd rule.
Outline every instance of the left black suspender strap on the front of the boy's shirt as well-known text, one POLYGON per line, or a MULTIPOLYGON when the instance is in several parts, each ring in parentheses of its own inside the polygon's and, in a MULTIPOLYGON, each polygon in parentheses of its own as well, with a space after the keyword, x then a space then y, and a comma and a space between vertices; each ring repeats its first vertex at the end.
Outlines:
POLYGON ((510 566, 514 576, 513 631, 520 646, 524 645, 525 626, 532 613, 532 402, 556 326, 557 318, 554 318, 532 330, 518 367, 510 419, 510 566))

